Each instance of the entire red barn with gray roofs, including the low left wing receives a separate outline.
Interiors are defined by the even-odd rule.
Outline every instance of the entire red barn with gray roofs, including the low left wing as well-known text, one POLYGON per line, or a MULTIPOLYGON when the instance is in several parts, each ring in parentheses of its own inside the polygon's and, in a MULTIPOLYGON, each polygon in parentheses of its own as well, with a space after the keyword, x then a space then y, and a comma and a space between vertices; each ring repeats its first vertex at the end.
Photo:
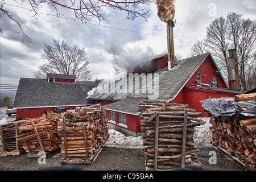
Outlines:
POLYGON ((101 103, 110 129, 141 135, 139 101, 166 100, 188 104, 205 116, 201 102, 207 98, 234 97, 210 53, 176 60, 168 68, 167 53, 128 69, 117 80, 76 81, 76 76, 47 74, 46 79, 20 78, 14 101, 16 118, 35 118, 53 107, 101 103), (97 89, 93 89, 97 88, 97 89), (95 90, 88 96, 88 92, 95 90))

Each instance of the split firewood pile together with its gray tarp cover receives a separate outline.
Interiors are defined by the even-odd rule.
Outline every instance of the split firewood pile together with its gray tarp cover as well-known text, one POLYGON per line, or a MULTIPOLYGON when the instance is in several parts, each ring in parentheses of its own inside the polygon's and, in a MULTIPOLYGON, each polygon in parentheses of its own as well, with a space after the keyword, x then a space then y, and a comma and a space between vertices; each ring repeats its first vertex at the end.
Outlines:
POLYGON ((232 101, 226 98, 227 102, 223 102, 225 98, 220 98, 203 102, 211 117, 212 143, 249 170, 256 170, 256 101, 252 100, 255 96, 255 93, 241 94, 232 101), (210 101, 214 110, 209 110, 210 101), (225 112, 217 113, 218 107, 225 112))

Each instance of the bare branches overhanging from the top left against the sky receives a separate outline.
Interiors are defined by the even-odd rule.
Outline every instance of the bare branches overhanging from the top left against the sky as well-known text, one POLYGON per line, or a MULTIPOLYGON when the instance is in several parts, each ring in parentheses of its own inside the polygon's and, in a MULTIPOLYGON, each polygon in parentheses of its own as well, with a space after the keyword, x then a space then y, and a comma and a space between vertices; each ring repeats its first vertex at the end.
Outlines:
MULTIPOLYGON (((22 4, 26 0, 20 0, 20 4, 22 4)), ((120 11, 124 11, 127 13, 126 19, 135 19, 138 17, 147 18, 150 17, 150 10, 142 9, 141 5, 146 5, 147 3, 153 2, 153 0, 120 0, 120 1, 112 1, 112 0, 69 0, 69 1, 53 1, 53 0, 27 0, 30 3, 31 11, 34 11, 34 15, 32 17, 36 18, 39 16, 38 8, 39 6, 50 5, 55 9, 55 13, 57 16, 64 16, 61 13, 60 8, 63 7, 68 10, 72 10, 75 15, 75 20, 79 19, 82 23, 89 23, 93 20, 93 18, 98 19, 98 25, 100 26, 100 22, 104 21, 109 23, 107 19, 108 15, 105 13, 105 9, 117 9, 120 11), (67 4, 66 4, 67 3, 67 4)), ((17 2, 17 1, 16 1, 17 2)), ((18 2, 17 2, 18 3, 18 2)), ((18 23, 12 16, 9 11, 3 9, 3 3, 0 4, 0 16, 7 15, 10 19, 14 20, 15 23, 18 24, 20 31, 23 35, 24 40, 28 40, 30 42, 31 38, 25 34, 22 29, 22 25, 18 23)), ((3 31, 3 28, 0 27, 0 32, 3 31)))

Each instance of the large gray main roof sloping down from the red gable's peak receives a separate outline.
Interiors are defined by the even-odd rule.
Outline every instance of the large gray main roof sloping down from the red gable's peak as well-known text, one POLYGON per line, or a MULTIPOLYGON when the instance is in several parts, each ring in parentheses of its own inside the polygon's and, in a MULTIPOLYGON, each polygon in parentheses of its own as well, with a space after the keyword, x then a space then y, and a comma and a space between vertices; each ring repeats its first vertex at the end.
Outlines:
MULTIPOLYGON (((188 78, 196 71, 196 69, 199 67, 199 65, 203 62, 203 60, 209 55, 209 53, 204 53, 203 55, 189 57, 187 59, 176 61, 177 66, 170 70, 166 71, 166 69, 159 69, 154 72, 159 74, 159 97, 160 100, 170 100, 173 99, 176 94, 179 92, 179 90, 185 85, 185 82, 188 80, 188 78)), ((154 75, 152 75, 154 76, 154 75)), ((147 80, 148 81, 148 80, 147 80)), ((89 99, 92 100, 123 100, 127 97, 135 97, 135 98, 147 98, 150 95, 149 93, 142 93, 141 86, 146 85, 147 81, 140 81, 140 88, 139 93, 131 93, 129 92, 129 89, 135 90, 134 85, 133 88, 129 88, 129 78, 126 77, 126 80, 118 80, 115 81, 115 87, 118 88, 118 85, 126 84, 127 89, 126 93, 118 93, 110 92, 110 86, 106 86, 106 89, 104 92, 101 90, 99 92, 99 89, 94 92, 92 96, 89 97, 89 99)), ((108 84, 109 80, 106 80, 106 83, 108 84)), ((101 82, 103 84, 103 82, 101 82)), ((106 84, 106 85, 107 85, 106 84)), ((135 84, 135 83, 134 83, 135 84)), ((138 84, 138 83, 137 83, 138 84)), ((154 84, 154 78, 152 80, 152 84, 154 84)), ((110 85, 110 83, 109 83, 110 85)), ((100 87, 98 85, 98 87, 100 87)), ((103 88, 103 86, 101 87, 103 88)))

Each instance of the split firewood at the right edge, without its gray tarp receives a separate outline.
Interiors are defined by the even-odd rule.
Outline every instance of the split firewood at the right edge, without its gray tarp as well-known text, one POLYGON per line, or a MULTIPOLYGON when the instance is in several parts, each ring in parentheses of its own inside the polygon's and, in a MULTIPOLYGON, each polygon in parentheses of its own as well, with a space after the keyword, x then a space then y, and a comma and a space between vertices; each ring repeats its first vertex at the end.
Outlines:
MULTIPOLYGON (((248 101, 254 94, 237 95, 235 101, 248 101), (246 96, 247 95, 247 96, 246 96)), ((244 111, 254 106, 238 107, 244 111)), ((236 157, 247 169, 256 170, 256 112, 254 115, 235 114, 233 116, 221 115, 216 117, 209 113, 212 142, 223 148, 229 155, 236 157)))

